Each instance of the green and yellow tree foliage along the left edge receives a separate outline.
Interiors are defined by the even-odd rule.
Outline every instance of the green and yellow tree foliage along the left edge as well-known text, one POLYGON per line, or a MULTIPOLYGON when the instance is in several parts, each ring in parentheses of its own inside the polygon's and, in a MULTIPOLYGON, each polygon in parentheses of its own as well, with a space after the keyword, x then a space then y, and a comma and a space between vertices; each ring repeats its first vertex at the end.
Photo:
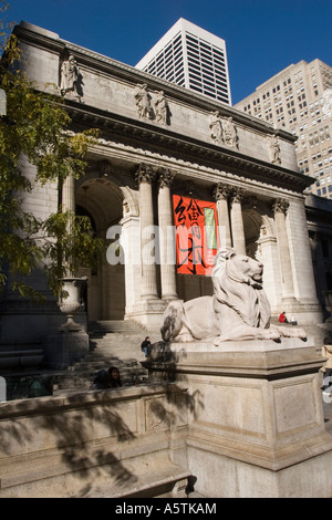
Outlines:
POLYGON ((22 295, 37 297, 27 279, 43 266, 50 288, 59 294, 59 278, 79 266, 91 266, 103 243, 93 236, 87 217, 62 212, 42 221, 24 211, 22 198, 38 186, 61 186, 69 174, 84 174, 89 145, 95 131, 72 134, 65 102, 58 94, 39 92, 20 72, 20 49, 9 34, 8 4, 0 0, 0 89, 7 95, 7 116, 0 116, 0 293, 6 283, 22 295), (27 178, 22 157, 35 167, 27 178))

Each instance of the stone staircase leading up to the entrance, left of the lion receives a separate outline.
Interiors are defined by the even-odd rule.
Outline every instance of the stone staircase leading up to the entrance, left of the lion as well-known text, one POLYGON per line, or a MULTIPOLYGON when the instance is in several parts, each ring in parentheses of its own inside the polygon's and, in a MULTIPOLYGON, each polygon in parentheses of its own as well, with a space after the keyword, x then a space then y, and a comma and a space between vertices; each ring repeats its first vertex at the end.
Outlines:
POLYGON ((53 394, 63 391, 89 389, 96 372, 114 365, 120 370, 124 386, 146 381, 147 371, 141 365, 145 360, 141 343, 149 335, 159 340, 157 331, 147 331, 133 321, 107 320, 90 322, 90 353, 68 370, 54 375, 53 394))

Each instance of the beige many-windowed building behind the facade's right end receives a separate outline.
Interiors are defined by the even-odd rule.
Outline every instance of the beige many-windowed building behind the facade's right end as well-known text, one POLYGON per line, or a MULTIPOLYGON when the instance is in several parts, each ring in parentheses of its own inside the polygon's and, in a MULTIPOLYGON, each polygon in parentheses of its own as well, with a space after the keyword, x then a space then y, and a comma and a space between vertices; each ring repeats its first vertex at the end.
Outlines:
POLYGON ((315 179, 307 193, 332 199, 331 66, 318 59, 300 61, 266 81, 235 107, 297 135, 300 171, 315 179))

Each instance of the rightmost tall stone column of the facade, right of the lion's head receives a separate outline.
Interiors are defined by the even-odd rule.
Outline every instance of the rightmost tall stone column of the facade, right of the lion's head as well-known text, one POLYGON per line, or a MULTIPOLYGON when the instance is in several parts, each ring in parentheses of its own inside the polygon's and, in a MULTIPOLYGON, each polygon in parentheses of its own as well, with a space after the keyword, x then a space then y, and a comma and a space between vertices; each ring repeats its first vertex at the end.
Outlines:
POLYGON ((277 199, 273 204, 277 241, 281 268, 282 300, 293 301, 294 285, 286 227, 286 214, 288 207, 289 202, 282 199, 277 199))

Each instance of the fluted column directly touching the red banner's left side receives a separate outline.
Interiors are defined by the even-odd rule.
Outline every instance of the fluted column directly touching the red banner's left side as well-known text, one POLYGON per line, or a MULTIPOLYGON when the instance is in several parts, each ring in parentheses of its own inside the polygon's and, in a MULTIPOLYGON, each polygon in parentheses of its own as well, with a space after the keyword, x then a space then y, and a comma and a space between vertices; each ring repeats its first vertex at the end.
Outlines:
POLYGON ((177 300, 176 293, 176 246, 173 226, 170 185, 174 173, 159 170, 158 223, 160 250, 162 299, 177 300))

